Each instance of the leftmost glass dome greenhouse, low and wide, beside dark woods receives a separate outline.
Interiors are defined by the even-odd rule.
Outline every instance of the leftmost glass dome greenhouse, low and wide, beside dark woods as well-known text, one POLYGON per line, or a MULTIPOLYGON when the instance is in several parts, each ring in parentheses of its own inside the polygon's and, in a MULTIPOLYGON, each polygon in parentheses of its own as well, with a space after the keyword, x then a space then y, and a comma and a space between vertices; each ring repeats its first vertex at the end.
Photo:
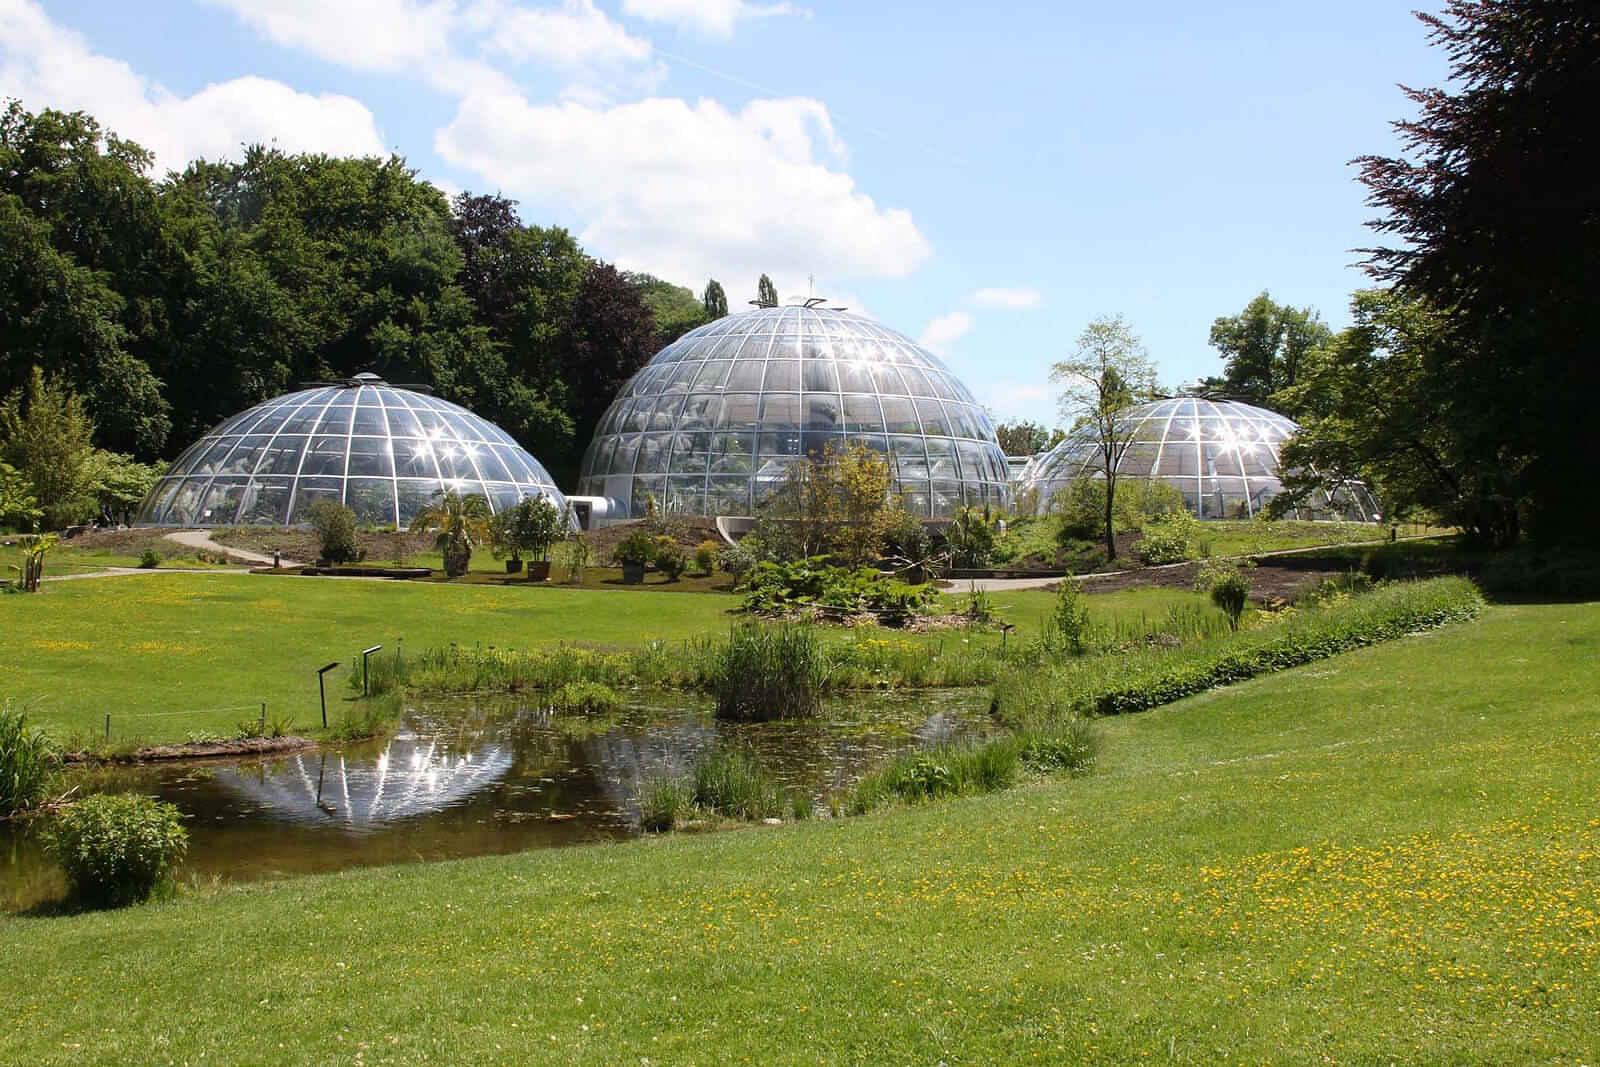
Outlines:
POLYGON ((226 419, 150 490, 139 523, 270 526, 309 522, 342 501, 357 522, 405 528, 440 490, 488 498, 565 498, 506 430, 448 400, 376 374, 286 394, 226 419))

